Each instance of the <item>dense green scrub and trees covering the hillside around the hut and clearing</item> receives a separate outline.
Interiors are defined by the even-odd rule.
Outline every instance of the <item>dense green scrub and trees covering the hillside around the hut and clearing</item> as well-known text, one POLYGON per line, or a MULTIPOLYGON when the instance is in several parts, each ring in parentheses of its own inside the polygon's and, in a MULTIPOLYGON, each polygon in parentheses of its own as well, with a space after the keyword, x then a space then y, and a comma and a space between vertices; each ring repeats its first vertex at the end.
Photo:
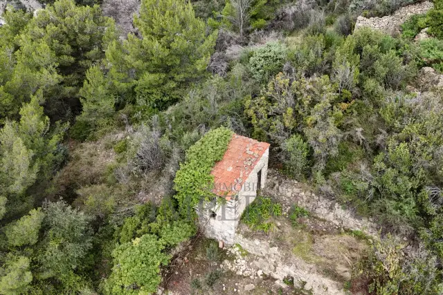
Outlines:
POLYGON ((42 2, 0 27, 0 294, 156 292, 232 133, 377 222, 368 293, 443 292, 443 1, 42 2))

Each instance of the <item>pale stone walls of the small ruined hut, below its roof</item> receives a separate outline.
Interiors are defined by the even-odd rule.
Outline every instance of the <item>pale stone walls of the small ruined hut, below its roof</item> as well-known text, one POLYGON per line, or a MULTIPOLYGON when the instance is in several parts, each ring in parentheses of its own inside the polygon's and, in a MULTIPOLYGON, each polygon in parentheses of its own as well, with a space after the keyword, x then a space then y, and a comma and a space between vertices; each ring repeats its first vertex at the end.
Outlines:
POLYGON ((269 149, 258 160, 242 187, 238 188, 237 196, 233 196, 226 204, 221 202, 200 204, 197 213, 199 214, 199 224, 206 237, 222 240, 226 245, 233 244, 235 229, 237 229, 242 213, 257 196, 257 174, 260 170, 262 171, 261 187, 264 188, 266 184, 268 161, 269 149))

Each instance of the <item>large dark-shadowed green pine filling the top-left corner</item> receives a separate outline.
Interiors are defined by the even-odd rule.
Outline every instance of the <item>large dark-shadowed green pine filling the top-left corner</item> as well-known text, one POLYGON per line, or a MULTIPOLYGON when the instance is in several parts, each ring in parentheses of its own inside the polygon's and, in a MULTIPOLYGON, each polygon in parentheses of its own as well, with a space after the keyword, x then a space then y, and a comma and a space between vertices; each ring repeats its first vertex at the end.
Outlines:
MULTIPOLYGON (((22 28, 22 23, 13 24, 22 28)), ((46 6, 17 36, 17 63, 8 82, 0 85, 15 99, 0 100, 0 113, 16 115, 37 89, 50 102, 46 113, 51 117, 62 118, 66 108, 77 111, 78 90, 87 69, 103 57, 107 42, 115 38, 114 22, 103 17, 98 6, 75 6, 72 0, 46 6)))

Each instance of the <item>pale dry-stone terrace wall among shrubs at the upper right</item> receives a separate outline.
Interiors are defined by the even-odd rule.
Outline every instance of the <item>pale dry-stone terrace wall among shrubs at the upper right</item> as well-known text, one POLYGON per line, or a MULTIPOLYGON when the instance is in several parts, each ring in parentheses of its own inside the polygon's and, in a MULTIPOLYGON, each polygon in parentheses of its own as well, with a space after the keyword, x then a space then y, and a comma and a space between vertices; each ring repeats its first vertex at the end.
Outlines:
POLYGON ((373 28, 374 30, 381 30, 388 34, 395 34, 399 32, 400 25, 404 23, 411 15, 423 15, 428 10, 433 8, 431 1, 424 1, 415 3, 409 6, 404 6, 395 11, 393 15, 386 17, 358 17, 355 23, 355 30, 362 27, 373 28))

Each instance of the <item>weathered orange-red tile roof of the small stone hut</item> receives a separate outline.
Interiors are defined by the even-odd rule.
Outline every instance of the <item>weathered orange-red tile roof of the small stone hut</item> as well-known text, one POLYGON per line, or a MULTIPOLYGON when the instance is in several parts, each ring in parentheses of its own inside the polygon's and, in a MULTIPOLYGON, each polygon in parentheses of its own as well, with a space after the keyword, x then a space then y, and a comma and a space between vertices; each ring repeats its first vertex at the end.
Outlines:
POLYGON ((211 171, 215 184, 213 193, 227 200, 235 196, 268 148, 266 142, 234 134, 223 159, 211 171))

